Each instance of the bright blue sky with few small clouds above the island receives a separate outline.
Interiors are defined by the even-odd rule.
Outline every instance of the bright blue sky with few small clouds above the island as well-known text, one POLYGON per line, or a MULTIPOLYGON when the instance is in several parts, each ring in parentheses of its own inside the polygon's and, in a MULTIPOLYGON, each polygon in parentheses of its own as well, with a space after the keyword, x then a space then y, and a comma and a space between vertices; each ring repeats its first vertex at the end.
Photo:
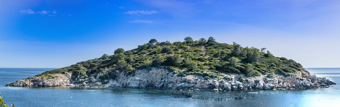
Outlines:
POLYGON ((337 0, 2 0, 0 67, 61 68, 148 42, 215 37, 340 67, 337 0))

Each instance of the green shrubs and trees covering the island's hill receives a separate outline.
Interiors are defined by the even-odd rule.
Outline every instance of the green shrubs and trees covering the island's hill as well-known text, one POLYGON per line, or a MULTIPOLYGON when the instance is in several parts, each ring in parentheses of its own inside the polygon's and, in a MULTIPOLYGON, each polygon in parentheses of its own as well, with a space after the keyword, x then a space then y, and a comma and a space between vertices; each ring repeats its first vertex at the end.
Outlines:
POLYGON ((238 73, 246 76, 272 77, 272 73, 291 75, 305 69, 292 59, 274 57, 266 48, 241 47, 218 43, 213 37, 194 41, 186 37, 183 42, 158 42, 151 39, 138 48, 125 51, 118 48, 113 55, 104 54, 99 58, 82 61, 69 67, 52 70, 38 76, 55 78, 54 73, 70 73, 75 81, 102 82, 115 78, 119 70, 133 75, 138 69, 151 67, 167 68, 177 76, 202 75, 205 78, 224 78, 227 73, 238 73), (76 80, 78 79, 78 80, 76 80))

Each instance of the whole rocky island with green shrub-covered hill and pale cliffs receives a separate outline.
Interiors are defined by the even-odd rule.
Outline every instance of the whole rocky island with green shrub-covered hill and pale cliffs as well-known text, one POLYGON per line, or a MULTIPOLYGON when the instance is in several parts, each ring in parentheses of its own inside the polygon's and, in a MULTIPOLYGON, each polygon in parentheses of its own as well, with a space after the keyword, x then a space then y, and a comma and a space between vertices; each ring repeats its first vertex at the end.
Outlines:
POLYGON ((296 90, 328 88, 301 64, 266 48, 218 43, 213 37, 183 42, 151 39, 138 48, 24 78, 13 87, 125 87, 167 90, 296 90))

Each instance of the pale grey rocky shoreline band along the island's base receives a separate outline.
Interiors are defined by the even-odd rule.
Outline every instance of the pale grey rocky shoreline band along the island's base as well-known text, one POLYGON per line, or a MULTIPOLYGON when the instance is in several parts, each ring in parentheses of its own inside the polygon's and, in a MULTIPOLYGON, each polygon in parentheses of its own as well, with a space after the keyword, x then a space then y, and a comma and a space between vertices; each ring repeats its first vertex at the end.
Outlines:
POLYGON ((6 86, 13 87, 124 87, 124 88, 150 88, 167 90, 297 90, 328 88, 335 85, 329 79, 317 77, 309 72, 301 72, 291 76, 274 75, 267 78, 245 77, 243 74, 227 74, 233 77, 231 80, 208 79, 202 76, 188 75, 179 77, 167 69, 152 68, 151 70, 137 70, 134 75, 126 75, 124 72, 116 71, 116 79, 107 84, 98 82, 98 78, 86 78, 81 84, 74 83, 70 74, 53 74, 55 78, 33 76, 24 78, 6 86), (242 77, 245 81, 239 80, 242 77))

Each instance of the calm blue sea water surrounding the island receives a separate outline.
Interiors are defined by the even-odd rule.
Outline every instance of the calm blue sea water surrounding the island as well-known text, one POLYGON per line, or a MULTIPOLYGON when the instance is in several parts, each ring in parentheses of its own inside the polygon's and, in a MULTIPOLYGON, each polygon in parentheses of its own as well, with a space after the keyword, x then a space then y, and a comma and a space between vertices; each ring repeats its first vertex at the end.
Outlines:
MULTIPOLYGON (((340 68, 306 68, 318 77, 340 83, 340 68)), ((7 104, 17 107, 324 107, 339 106, 340 86, 311 90, 175 91, 124 88, 4 87, 49 68, 0 68, 0 92, 7 104), (190 92, 187 98, 181 93, 190 92), (242 97, 242 100, 235 100, 242 97), (111 104, 112 102, 112 104, 111 104), (83 105, 81 105, 83 103, 83 105), (262 105, 260 105, 262 103, 262 105)))

